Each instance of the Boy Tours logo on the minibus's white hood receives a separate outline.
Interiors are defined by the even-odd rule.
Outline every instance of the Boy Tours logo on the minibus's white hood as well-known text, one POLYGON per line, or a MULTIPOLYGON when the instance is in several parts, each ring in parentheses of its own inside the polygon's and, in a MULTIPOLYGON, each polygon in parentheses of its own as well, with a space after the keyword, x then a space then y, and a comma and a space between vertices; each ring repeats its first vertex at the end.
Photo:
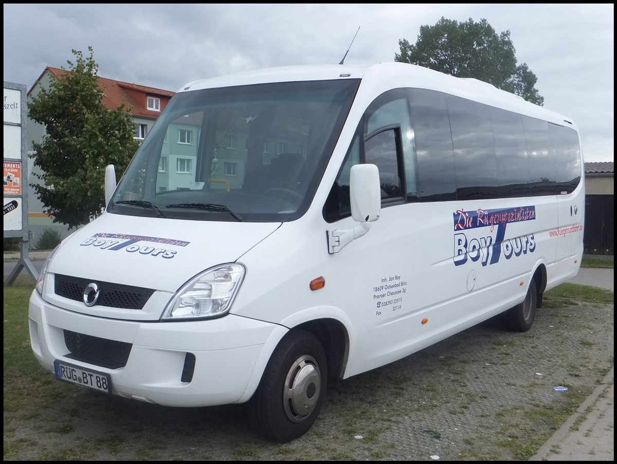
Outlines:
POLYGON ((149 237, 144 235, 109 234, 97 233, 81 243, 81 246, 93 246, 101 250, 138 253, 142 255, 160 256, 172 259, 177 251, 170 250, 168 246, 185 247, 190 242, 161 237, 149 237), (139 244, 139 242, 142 242, 139 244), (146 242, 146 244, 143 244, 146 242), (163 247, 165 246, 165 247, 163 247))

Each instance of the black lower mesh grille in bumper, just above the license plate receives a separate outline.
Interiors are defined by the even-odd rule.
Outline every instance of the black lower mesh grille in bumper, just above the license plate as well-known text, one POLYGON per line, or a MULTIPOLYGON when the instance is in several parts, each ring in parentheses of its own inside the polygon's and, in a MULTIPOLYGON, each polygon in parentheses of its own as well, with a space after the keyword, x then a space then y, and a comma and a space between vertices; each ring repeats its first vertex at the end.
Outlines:
POLYGON ((93 337, 70 330, 64 331, 64 342, 70 351, 66 355, 67 358, 109 369, 125 367, 133 347, 130 343, 93 337))

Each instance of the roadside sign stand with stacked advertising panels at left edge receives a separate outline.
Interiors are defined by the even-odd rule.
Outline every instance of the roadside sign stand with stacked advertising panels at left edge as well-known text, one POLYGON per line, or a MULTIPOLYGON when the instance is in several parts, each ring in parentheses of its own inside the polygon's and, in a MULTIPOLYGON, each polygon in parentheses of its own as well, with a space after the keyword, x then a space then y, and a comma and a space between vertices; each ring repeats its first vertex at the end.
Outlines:
POLYGON ((19 261, 4 286, 11 285, 24 267, 33 280, 38 280, 38 271, 30 261, 26 99, 25 85, 4 81, 4 238, 22 238, 19 261))

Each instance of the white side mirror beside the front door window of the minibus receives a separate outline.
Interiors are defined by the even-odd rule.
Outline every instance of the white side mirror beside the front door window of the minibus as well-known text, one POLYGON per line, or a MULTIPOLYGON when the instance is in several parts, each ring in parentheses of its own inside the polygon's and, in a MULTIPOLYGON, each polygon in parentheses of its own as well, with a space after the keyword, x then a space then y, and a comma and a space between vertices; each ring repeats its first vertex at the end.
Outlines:
POLYGON ((352 166, 349 179, 351 215, 357 222, 373 222, 381 212, 379 170, 374 164, 352 166))

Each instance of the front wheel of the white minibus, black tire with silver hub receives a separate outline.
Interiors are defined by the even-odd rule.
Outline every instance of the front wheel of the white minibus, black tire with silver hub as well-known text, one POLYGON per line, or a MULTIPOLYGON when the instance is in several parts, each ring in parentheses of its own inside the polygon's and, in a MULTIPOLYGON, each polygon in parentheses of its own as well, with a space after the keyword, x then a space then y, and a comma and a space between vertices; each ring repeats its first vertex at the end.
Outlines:
POLYGON ((326 353, 307 331, 292 331, 274 350, 249 402, 249 417, 259 433, 286 443, 313 425, 325 397, 326 353))

